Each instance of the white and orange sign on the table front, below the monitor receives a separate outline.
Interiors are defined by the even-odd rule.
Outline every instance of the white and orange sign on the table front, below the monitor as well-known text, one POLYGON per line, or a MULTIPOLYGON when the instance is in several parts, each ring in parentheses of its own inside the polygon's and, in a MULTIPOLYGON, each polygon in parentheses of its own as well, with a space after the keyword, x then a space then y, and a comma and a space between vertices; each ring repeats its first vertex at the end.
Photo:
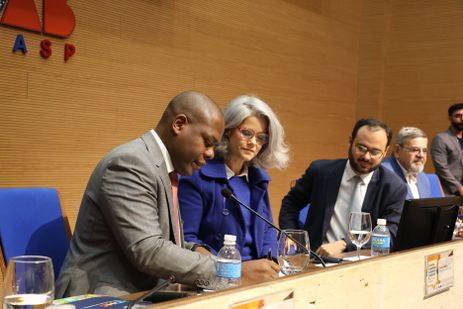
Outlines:
POLYGON ((453 250, 425 257, 424 298, 444 292, 453 286, 453 250))

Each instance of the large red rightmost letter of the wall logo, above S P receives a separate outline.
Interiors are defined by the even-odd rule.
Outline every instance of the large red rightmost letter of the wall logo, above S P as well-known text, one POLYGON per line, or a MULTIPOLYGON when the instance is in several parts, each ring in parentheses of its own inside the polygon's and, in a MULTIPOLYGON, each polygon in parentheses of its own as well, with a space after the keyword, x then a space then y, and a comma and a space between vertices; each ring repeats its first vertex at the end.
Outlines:
POLYGON ((43 0, 43 32, 68 37, 74 31, 76 18, 67 0, 43 0))

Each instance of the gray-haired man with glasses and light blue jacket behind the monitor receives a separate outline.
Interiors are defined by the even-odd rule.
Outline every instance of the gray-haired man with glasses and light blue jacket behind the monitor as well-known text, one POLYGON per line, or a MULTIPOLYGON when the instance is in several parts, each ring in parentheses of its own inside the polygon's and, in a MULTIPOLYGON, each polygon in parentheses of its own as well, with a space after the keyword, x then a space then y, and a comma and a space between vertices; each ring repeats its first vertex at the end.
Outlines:
MULTIPOLYGON (((426 133, 415 127, 403 127, 397 133, 391 156, 382 163, 407 184, 407 199, 434 197, 431 182, 423 173, 427 154, 426 133)), ((441 196, 442 194, 436 197, 441 196)))

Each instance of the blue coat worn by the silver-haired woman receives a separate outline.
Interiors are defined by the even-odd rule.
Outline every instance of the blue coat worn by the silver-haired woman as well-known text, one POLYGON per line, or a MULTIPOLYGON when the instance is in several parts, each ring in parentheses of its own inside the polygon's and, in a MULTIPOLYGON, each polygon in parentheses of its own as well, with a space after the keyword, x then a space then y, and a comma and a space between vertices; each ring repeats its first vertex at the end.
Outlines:
MULTIPOLYGON (((270 177, 260 168, 250 166, 248 170, 251 188, 251 207, 273 222, 268 197, 270 177)), ((222 159, 210 160, 193 176, 181 177, 178 199, 183 219, 185 240, 206 244, 217 254, 223 246, 225 234, 236 235, 238 249, 245 240, 243 212, 249 211, 239 204, 226 200, 221 190, 230 188, 222 159)), ((277 255, 276 231, 263 220, 251 214, 252 258, 262 258, 272 249, 277 255)))

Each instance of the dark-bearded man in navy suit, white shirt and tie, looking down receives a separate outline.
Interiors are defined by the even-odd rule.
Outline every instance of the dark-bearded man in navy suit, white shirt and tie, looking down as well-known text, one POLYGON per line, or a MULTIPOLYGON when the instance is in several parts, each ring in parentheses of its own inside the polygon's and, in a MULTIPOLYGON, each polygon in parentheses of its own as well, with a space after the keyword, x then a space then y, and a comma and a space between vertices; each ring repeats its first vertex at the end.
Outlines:
POLYGON ((299 212, 310 204, 304 229, 320 255, 355 249, 347 231, 349 215, 356 211, 370 213, 373 226, 378 218, 386 219, 393 241, 407 186, 381 166, 391 138, 392 131, 383 122, 357 121, 349 139, 349 158, 313 161, 283 198, 280 227, 297 228, 299 212))

